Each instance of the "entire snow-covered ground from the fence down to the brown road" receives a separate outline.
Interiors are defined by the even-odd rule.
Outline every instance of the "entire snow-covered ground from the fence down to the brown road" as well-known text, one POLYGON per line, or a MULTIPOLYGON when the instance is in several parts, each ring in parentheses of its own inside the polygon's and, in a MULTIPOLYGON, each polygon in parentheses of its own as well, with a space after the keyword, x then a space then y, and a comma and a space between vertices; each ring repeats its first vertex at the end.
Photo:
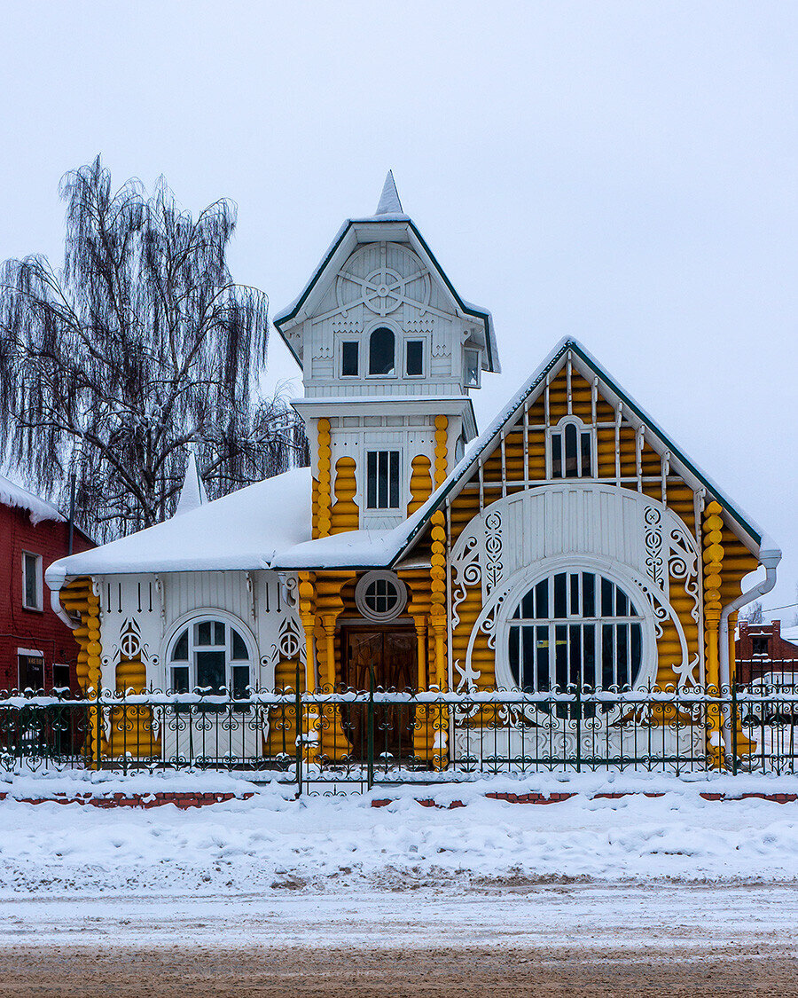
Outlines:
POLYGON ((651 954, 792 954, 798 803, 706 801, 700 789, 548 805, 472 793, 451 810, 277 791, 189 811, 9 799, 0 947, 534 948, 557 938, 651 954))

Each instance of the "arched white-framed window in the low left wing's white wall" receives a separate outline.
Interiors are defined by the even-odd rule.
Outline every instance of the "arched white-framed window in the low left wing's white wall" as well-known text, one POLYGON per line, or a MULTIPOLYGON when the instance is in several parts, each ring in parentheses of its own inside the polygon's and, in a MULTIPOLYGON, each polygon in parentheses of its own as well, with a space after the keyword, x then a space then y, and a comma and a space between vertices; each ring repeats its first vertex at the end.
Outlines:
POLYGON ((193 621, 172 642, 170 682, 175 693, 218 694, 246 699, 250 655, 241 635, 223 621, 193 621))

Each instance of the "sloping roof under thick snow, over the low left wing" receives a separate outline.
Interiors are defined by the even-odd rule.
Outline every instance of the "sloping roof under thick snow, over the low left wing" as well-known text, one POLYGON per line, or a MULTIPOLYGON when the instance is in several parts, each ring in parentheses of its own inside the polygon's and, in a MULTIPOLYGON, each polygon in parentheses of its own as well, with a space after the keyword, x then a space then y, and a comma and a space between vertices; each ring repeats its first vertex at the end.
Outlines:
POLYGON ((81 575, 268 568, 310 538, 310 469, 266 478, 164 523, 54 562, 51 589, 81 575))

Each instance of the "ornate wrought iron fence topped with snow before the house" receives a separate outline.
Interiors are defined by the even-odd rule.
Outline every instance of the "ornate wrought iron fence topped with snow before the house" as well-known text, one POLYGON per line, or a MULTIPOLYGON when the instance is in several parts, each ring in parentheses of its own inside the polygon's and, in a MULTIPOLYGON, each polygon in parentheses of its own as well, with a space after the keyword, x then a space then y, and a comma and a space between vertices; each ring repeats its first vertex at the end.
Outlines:
POLYGON ((792 773, 798 692, 101 693, 0 699, 0 769, 240 771, 335 792, 540 771, 792 773))

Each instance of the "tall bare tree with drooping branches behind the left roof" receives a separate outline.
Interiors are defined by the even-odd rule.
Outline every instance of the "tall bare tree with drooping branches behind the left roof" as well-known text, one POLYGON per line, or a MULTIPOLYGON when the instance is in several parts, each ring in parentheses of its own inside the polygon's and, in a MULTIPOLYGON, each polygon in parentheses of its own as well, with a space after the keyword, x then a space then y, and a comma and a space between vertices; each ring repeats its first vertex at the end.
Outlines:
POLYGON ((174 509, 188 448, 208 494, 306 463, 292 410, 260 398, 265 295, 234 284, 228 201, 197 220, 163 178, 114 192, 100 158, 68 174, 66 251, 0 270, 0 433, 5 459, 64 501, 70 472, 100 538, 174 509))

